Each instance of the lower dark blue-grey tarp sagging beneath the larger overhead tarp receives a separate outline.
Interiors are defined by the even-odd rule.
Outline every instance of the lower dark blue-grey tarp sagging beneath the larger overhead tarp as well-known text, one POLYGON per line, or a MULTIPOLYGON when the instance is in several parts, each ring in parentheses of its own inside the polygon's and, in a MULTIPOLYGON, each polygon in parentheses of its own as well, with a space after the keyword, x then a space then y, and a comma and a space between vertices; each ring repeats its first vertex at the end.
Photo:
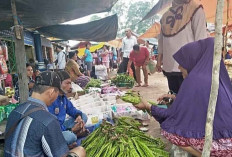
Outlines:
POLYGON ((64 40, 104 42, 116 38, 118 31, 117 15, 78 25, 53 25, 37 29, 48 37, 64 40))

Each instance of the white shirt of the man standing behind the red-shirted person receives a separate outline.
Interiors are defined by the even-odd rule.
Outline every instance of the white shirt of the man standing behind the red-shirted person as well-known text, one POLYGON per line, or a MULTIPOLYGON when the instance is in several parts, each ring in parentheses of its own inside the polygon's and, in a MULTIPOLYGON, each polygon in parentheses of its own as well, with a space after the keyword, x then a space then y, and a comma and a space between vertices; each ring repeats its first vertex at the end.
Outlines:
POLYGON ((124 37, 122 39, 122 52, 123 57, 129 58, 131 51, 133 50, 133 46, 137 44, 137 39, 135 36, 131 36, 130 38, 124 37))

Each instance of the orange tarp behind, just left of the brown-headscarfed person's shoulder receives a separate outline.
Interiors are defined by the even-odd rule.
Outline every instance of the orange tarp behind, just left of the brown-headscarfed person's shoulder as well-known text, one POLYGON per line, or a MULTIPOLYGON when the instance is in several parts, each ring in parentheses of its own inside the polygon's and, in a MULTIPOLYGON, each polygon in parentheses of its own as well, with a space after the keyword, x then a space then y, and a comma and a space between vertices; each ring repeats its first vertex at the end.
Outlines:
POLYGON ((160 34, 161 25, 157 22, 155 22, 151 28, 149 28, 144 34, 139 36, 139 38, 157 38, 157 36, 160 34))

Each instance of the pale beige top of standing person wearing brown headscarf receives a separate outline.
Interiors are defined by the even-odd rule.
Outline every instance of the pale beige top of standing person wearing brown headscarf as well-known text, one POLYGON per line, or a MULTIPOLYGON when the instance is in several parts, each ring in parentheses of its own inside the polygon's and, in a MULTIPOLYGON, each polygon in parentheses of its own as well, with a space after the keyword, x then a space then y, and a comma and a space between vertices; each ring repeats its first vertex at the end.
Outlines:
POLYGON ((179 64, 174 60, 173 55, 182 46, 207 38, 205 24, 205 14, 203 9, 200 8, 186 27, 175 36, 164 37, 162 33, 160 34, 158 52, 163 54, 163 70, 165 72, 180 72, 179 64))

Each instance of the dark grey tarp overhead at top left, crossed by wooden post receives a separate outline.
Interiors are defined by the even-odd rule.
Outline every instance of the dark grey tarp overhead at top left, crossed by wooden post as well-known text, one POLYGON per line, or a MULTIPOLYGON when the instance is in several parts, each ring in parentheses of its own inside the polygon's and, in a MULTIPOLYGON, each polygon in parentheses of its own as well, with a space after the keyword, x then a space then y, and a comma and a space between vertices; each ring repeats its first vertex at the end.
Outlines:
MULTIPOLYGON (((117 0, 16 0, 16 9, 19 22, 25 28, 35 28, 110 11, 116 2, 117 0)), ((0 0, 0 30, 11 26, 11 1, 0 0)))

